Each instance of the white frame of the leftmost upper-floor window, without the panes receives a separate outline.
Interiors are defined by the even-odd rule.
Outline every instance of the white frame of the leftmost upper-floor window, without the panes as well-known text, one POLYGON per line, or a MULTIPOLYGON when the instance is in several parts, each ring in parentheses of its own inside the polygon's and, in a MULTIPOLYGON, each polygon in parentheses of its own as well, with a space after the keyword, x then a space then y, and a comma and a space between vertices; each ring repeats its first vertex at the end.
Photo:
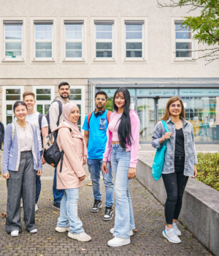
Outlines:
POLYGON ((5 23, 11 23, 12 25, 21 25, 21 39, 5 39, 5 26, 7 24, 4 23, 4 61, 20 61, 23 60, 23 20, 17 21, 17 20, 4 20, 5 23), (21 42, 21 58, 20 59, 13 59, 13 58, 6 58, 5 51, 6 51, 6 42, 21 42))

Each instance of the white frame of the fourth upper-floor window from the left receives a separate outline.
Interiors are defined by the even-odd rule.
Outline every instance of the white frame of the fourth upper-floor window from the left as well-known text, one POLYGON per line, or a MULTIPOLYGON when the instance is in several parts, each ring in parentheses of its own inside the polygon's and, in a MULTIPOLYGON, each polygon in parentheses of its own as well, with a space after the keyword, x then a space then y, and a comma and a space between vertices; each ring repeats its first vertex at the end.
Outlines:
POLYGON ((95 29, 94 29, 94 56, 95 56, 95 60, 99 60, 99 61, 109 61, 109 60, 113 60, 114 59, 114 56, 115 56, 115 53, 114 53, 114 44, 115 44, 115 39, 114 39, 114 31, 115 31, 115 24, 114 24, 114 20, 110 21, 110 22, 107 22, 107 20, 105 21, 100 21, 100 20, 95 20, 95 29), (96 39, 96 25, 112 25, 112 39, 96 39), (102 57, 96 57, 96 42, 112 42, 112 57, 109 57, 109 58, 102 58, 102 57))

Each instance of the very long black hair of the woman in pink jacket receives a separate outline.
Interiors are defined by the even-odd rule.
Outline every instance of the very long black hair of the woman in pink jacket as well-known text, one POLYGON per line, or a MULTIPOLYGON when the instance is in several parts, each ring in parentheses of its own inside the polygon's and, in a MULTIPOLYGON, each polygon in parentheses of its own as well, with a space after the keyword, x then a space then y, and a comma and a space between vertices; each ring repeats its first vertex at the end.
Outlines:
POLYGON ((122 148, 126 148, 126 143, 131 146, 131 121, 130 121, 130 94, 129 91, 124 88, 120 87, 115 91, 113 97, 113 108, 118 111, 117 105, 115 105, 115 96, 118 94, 120 96, 123 94, 125 98, 125 105, 123 110, 123 115, 120 117, 120 125, 118 127, 118 137, 120 139, 120 146, 122 148))

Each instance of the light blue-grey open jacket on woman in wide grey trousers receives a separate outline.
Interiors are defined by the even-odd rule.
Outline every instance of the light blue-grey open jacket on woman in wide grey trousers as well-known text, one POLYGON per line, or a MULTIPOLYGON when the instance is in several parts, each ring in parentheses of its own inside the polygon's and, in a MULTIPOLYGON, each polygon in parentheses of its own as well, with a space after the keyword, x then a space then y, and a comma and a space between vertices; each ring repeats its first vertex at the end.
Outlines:
MULTIPOLYGON (((37 138, 37 129, 34 131, 34 128, 31 125, 31 129, 34 135, 34 150, 33 159, 34 159, 34 170, 42 170, 42 162, 39 153, 39 142, 37 138)), ((18 146, 18 135, 17 129, 15 126, 15 135, 12 140, 12 124, 7 124, 4 132, 4 151, 3 151, 3 161, 2 161, 2 172, 8 173, 8 170, 18 171, 20 164, 20 151, 18 146)))

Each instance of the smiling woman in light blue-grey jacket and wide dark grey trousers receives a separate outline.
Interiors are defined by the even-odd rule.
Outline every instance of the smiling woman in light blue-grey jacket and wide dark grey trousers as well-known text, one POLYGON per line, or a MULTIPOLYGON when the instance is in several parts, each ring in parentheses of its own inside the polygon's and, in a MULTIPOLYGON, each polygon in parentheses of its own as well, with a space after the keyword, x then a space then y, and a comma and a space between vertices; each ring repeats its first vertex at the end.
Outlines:
POLYGON ((27 106, 17 101, 13 106, 17 121, 7 124, 4 133, 3 176, 7 179, 6 230, 11 236, 22 231, 20 196, 23 197, 26 230, 37 233, 35 226, 36 171, 42 174, 37 129, 26 121, 27 106))

